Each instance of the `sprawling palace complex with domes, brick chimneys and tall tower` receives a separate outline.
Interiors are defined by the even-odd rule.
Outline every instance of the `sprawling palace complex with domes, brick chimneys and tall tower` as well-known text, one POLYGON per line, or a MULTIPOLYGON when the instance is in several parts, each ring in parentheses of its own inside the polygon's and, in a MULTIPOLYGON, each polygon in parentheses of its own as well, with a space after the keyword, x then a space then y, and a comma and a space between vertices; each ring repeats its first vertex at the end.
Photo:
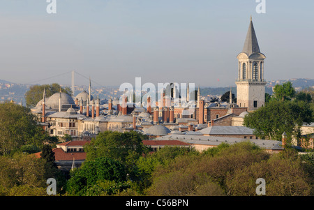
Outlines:
POLYGON ((145 106, 140 107, 128 101, 127 96, 122 100, 127 106, 121 105, 118 98, 101 103, 100 98, 91 96, 89 81, 89 91, 82 91, 75 97, 60 91, 46 98, 44 91, 43 99, 31 112, 36 114, 50 135, 63 137, 68 134, 77 140, 95 137, 105 130, 137 130, 151 138, 183 133, 200 135, 200 130, 212 126, 236 127, 238 133, 234 136, 241 133, 241 137, 255 138, 244 128, 243 120, 248 112, 264 106, 265 58, 260 52, 251 18, 244 48, 237 56, 237 103, 232 101, 231 92, 229 103, 201 100, 200 88, 197 90, 197 100, 189 100, 192 93, 186 93, 187 103, 195 103, 192 111, 184 106, 175 106, 173 97, 166 96, 165 91, 160 101, 151 101, 148 97, 142 101, 145 106), (153 103, 156 106, 153 107, 153 103))

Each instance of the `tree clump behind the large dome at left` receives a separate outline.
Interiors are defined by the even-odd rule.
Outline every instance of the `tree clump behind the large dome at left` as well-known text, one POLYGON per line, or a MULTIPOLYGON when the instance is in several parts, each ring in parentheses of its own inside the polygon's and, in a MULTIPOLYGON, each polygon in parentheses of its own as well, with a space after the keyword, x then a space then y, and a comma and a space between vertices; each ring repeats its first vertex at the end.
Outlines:
POLYGON ((52 96, 54 93, 60 91, 63 93, 67 93, 69 95, 72 94, 72 91, 69 87, 62 88, 59 84, 43 84, 43 85, 33 85, 30 87, 29 91, 25 93, 25 99, 27 103, 27 107, 35 107, 38 101, 43 99, 43 91, 45 89, 46 97, 52 96))

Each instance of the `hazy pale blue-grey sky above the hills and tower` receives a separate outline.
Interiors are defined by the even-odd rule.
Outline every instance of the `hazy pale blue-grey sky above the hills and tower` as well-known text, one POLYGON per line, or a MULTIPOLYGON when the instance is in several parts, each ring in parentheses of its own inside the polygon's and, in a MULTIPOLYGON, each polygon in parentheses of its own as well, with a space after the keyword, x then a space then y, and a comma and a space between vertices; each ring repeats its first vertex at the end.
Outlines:
POLYGON ((0 0, 0 80, 235 87, 251 15, 264 79, 314 78, 314 1, 55 1, 0 0))

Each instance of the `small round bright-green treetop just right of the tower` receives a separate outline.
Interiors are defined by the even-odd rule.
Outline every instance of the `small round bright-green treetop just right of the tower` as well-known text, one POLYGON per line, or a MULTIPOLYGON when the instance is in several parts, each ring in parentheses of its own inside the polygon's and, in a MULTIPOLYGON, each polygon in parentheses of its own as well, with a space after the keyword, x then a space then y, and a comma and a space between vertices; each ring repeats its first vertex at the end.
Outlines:
POLYGON ((291 100, 294 98, 296 91, 292 87, 292 82, 285 82, 282 85, 276 84, 274 87, 274 98, 276 100, 291 100))

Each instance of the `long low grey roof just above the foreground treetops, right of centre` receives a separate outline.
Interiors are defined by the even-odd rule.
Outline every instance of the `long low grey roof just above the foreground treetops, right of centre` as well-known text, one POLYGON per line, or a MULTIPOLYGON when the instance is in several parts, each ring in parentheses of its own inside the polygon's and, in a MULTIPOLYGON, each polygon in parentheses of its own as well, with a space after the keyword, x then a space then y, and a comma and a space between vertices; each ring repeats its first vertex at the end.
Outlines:
POLYGON ((253 144, 263 149, 282 150, 282 142, 273 140, 248 140, 237 137, 216 137, 216 136, 203 136, 203 135, 177 135, 170 134, 162 137, 157 137, 155 140, 179 140, 188 144, 202 144, 218 146, 221 143, 235 144, 239 142, 252 142, 253 144))

